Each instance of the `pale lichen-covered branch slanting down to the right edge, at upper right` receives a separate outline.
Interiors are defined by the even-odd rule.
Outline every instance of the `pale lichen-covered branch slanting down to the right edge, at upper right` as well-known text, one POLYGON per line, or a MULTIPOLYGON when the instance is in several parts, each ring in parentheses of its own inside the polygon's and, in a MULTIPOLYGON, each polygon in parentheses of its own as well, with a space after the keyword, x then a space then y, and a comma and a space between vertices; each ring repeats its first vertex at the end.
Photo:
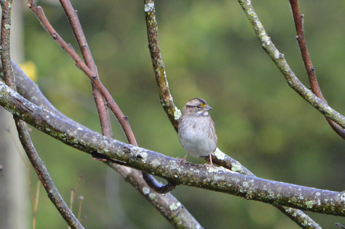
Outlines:
POLYGON ((329 107, 327 103, 323 102, 318 98, 311 90, 305 87, 296 77, 296 75, 291 70, 290 66, 287 64, 284 54, 280 53, 270 37, 267 35, 262 23, 260 22, 255 10, 252 6, 250 0, 238 0, 243 10, 245 11, 247 18, 253 26, 253 29, 258 36, 262 47, 271 57, 273 62, 279 68, 280 72, 283 73, 285 79, 289 86, 294 89, 300 96, 302 96, 307 102, 309 102, 313 107, 315 107, 319 112, 324 114, 326 117, 332 119, 338 123, 341 127, 345 128, 345 117, 340 113, 335 111, 333 108, 329 107))

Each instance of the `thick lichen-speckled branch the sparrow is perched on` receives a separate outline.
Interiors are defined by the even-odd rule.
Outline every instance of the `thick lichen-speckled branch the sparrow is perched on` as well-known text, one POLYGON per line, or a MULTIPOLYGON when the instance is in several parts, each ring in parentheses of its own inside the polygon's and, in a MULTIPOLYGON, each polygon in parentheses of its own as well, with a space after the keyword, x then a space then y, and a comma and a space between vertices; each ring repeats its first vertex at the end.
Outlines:
POLYGON ((50 136, 89 154, 184 184, 241 196, 269 204, 283 205, 324 214, 345 216, 345 193, 269 181, 223 167, 186 163, 147 149, 88 133, 37 107, 0 82, 0 105, 15 116, 50 136))

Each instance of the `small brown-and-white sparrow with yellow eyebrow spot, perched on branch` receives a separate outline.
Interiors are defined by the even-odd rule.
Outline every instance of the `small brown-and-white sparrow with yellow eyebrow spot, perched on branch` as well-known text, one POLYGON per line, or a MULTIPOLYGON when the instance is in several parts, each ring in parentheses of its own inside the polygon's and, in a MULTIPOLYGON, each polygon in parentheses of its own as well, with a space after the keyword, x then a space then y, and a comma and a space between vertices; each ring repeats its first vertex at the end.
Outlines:
POLYGON ((211 153, 217 148, 217 134, 215 124, 208 111, 212 108, 201 98, 194 98, 186 103, 178 123, 178 138, 182 147, 188 152, 180 159, 185 161, 188 154, 195 157, 210 157, 210 166, 213 166, 211 153))

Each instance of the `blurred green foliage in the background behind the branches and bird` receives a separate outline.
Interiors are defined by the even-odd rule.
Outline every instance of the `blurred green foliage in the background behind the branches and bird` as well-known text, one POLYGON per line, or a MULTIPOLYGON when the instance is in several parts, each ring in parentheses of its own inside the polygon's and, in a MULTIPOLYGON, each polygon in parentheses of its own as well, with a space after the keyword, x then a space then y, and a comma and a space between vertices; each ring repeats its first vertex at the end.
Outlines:
MULTIPOLYGON (((263 51, 237 1, 156 1, 159 42, 170 91, 178 108, 194 97, 213 107, 218 147, 259 177, 342 191, 345 142, 325 118, 288 87, 263 51)), ((58 5, 39 2, 57 32, 78 46, 58 5)), ((98 66, 100 79, 125 115, 140 146, 184 156, 161 108, 147 47, 143 1, 72 1, 98 66)), ((254 1, 268 35, 299 79, 308 86, 288 1, 254 1)), ((345 114, 345 2, 300 1, 305 35, 329 105, 345 114)), ((60 111, 100 131, 89 80, 25 12, 26 59, 37 65, 38 85, 60 111)), ((114 136, 125 141, 112 116, 114 136)), ((33 142, 62 197, 80 174, 85 228, 172 228, 134 188, 105 164, 33 130, 33 142), (108 172, 107 172, 108 171, 108 172), (106 178, 108 174, 108 178, 106 178), (110 178, 109 178, 110 177, 110 178), (111 187, 111 188, 110 188, 111 187), (124 220, 126 219, 126 220, 124 220)), ((188 157, 188 161, 204 163, 188 157)), ((36 179, 32 174, 32 179, 36 179)), ((205 228, 299 228, 267 204, 178 186, 172 194, 205 228)), ((323 228, 343 218, 309 214, 323 228)), ((67 228, 45 191, 37 228, 67 228)))

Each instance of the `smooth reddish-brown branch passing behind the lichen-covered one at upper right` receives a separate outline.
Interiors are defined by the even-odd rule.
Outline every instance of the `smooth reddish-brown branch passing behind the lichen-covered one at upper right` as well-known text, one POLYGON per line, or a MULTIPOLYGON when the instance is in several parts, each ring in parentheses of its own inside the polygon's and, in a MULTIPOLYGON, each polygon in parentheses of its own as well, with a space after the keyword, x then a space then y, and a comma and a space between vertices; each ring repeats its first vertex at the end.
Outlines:
MULTIPOLYGON (((311 88, 312 92, 317 97, 319 97, 322 101, 327 103, 326 99, 322 95, 319 84, 317 83, 315 68, 312 64, 312 60, 311 60, 309 52, 308 52, 307 43, 306 43, 305 36, 304 36, 304 28, 303 28, 303 26, 304 26, 304 23, 303 23, 304 15, 300 13, 298 0, 289 0, 289 1, 290 1, 290 6, 292 9, 292 14, 293 14, 294 22, 295 22, 295 26, 296 26, 296 32, 297 32, 296 39, 298 42, 299 50, 300 50, 301 55, 302 55, 305 69, 307 71, 307 75, 308 75, 308 79, 309 79, 309 83, 310 83, 310 88, 311 88)), ((332 121, 328 117, 326 117, 326 120, 329 123, 329 125, 332 127, 332 129, 340 137, 342 137, 345 140, 345 129, 340 127, 337 123, 335 123, 334 121, 332 121)))

